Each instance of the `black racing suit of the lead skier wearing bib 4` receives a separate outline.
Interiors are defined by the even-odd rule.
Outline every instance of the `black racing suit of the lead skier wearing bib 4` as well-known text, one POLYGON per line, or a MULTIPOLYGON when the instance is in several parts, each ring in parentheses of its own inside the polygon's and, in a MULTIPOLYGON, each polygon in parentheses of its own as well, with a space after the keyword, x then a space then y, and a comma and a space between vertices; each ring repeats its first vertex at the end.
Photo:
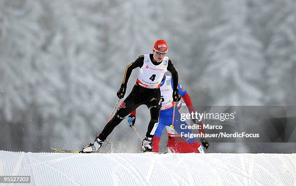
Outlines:
MULTIPOLYGON (((161 62, 157 62, 153 54, 149 55, 151 62, 154 65, 160 65, 161 62)), ((139 56, 135 61, 130 63, 124 73, 124 77, 122 80, 123 85, 127 85, 127 81, 133 71, 133 69, 144 65, 144 55, 139 56)), ((167 70, 171 72, 173 78, 174 89, 177 89, 178 86, 178 72, 176 71, 172 61, 169 59, 167 70), (176 87, 175 87, 176 86, 176 87)), ((134 109, 138 106, 145 104, 150 110, 150 122, 148 124, 148 130, 146 133, 146 137, 148 139, 152 139, 154 136, 154 132, 151 133, 154 128, 154 124, 158 123, 159 112, 161 108, 161 92, 160 88, 145 88, 136 83, 133 86, 132 92, 128 95, 128 97, 120 104, 116 114, 113 118, 105 125, 103 131, 99 135, 100 140, 105 140, 107 136, 112 132, 112 130, 134 109)))

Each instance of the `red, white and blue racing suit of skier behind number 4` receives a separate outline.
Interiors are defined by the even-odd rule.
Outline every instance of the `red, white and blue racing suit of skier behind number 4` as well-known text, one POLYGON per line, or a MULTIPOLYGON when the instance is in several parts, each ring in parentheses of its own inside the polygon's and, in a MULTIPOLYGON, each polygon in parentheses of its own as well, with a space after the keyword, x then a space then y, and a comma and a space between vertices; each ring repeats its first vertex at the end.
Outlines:
MULTIPOLYGON (((180 113, 178 109, 175 109, 175 121, 174 121, 174 129, 171 129, 170 126, 173 122, 173 112, 174 112, 174 104, 172 98, 173 92, 173 81, 171 76, 163 76, 163 81, 160 85, 161 89, 161 99, 162 99, 162 107, 159 115, 159 123, 158 127, 154 133, 153 137, 153 152, 159 152, 159 142, 162 137, 163 129, 166 127, 168 131, 168 142, 167 148, 169 152, 174 153, 204 153, 202 146, 195 141, 194 138, 185 138, 180 137, 180 133, 192 133, 191 129, 181 129, 181 125, 188 126, 185 121, 181 121, 180 113)), ((187 91, 182 87, 181 84, 178 83, 179 95, 182 97, 186 106, 189 109, 189 112, 195 112, 192 101, 190 99, 187 91)), ((131 113, 135 115, 135 110, 131 113)), ((200 122, 202 125, 202 123, 200 122)), ((185 128, 185 127, 182 127, 185 128)), ((199 129, 199 132, 205 133, 204 129, 199 129)))

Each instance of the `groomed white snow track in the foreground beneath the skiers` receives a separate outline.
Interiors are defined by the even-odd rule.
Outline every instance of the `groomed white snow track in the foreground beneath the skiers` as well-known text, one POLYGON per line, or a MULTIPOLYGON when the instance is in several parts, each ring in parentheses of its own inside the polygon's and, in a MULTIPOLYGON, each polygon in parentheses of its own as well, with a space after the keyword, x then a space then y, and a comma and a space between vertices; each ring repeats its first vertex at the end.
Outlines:
POLYGON ((7 186, 296 186, 296 154, 0 151, 0 175, 31 176, 7 186))

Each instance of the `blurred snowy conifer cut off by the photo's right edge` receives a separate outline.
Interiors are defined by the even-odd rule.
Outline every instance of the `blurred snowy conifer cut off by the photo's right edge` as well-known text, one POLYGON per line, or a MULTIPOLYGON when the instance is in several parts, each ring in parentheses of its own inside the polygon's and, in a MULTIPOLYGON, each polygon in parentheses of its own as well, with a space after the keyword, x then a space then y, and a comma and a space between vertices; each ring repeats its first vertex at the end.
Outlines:
POLYGON ((296 9, 295 2, 286 4, 290 14, 274 29, 266 49, 268 60, 268 94, 271 105, 296 104, 296 9), (293 6, 294 5, 294 6, 293 6))

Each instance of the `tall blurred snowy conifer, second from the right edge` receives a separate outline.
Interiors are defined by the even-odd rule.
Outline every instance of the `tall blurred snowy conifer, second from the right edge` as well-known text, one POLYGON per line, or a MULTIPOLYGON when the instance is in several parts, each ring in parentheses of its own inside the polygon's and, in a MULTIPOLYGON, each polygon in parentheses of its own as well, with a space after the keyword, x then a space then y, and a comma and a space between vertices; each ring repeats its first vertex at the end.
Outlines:
POLYGON ((202 60, 203 84, 208 86, 212 105, 260 105, 263 93, 262 45, 252 36, 246 20, 246 1, 218 2, 217 25, 208 30, 210 38, 202 60))

